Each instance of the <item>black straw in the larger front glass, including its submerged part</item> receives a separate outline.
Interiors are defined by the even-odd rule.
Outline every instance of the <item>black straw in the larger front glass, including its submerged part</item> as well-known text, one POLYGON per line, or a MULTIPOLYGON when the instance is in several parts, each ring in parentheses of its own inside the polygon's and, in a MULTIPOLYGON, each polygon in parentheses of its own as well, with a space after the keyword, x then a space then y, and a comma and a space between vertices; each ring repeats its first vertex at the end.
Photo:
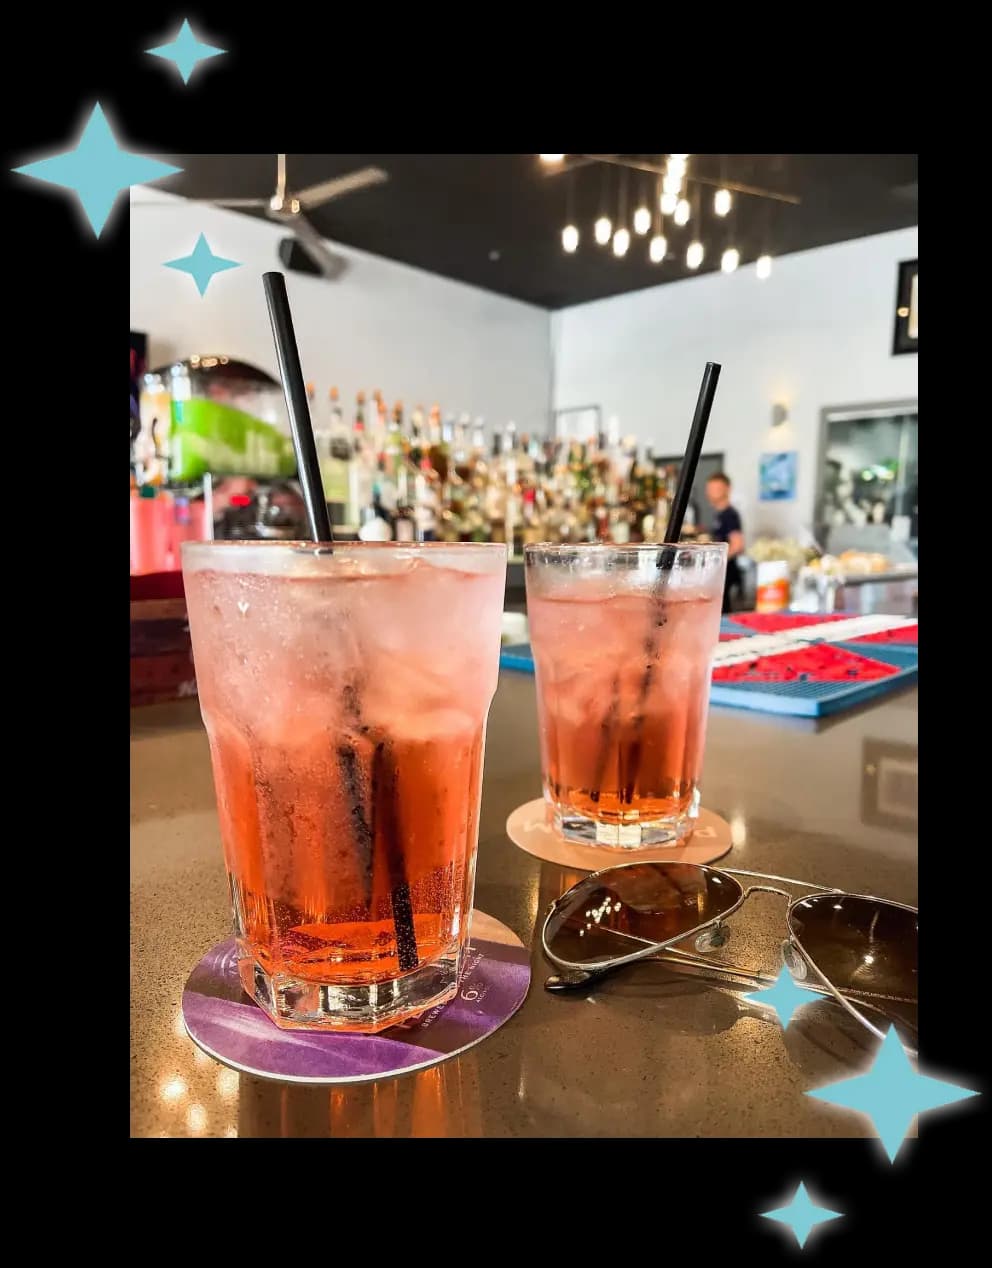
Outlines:
MULTIPOLYGON (((279 374, 283 379, 285 404, 289 411, 289 426, 293 432, 293 448, 297 454, 299 483, 303 500, 307 503, 310 531, 318 544, 331 543, 334 534, 327 515, 327 502, 323 498, 317 462, 317 446, 313 443, 313 424, 307 403, 307 388, 303 382, 303 368, 299 364, 299 349, 293 331, 293 314, 289 311, 289 297, 285 293, 285 278, 282 273, 264 273, 265 302, 269 306, 269 320, 275 341, 275 355, 279 359, 279 374)), ((353 694, 351 708, 359 710, 358 699, 353 694)), ((417 940, 414 931, 414 910, 410 902, 410 886, 403 869, 403 855, 397 831, 397 787, 396 767, 384 742, 375 749, 372 772, 372 814, 373 823, 365 819, 360 791, 356 780, 356 760, 343 760, 339 749, 339 768, 344 776, 345 789, 351 798, 351 820, 355 829, 355 844, 367 869, 365 883, 370 890, 370 852, 374 834, 378 832, 383 842, 386 865, 392 886, 393 924, 396 926, 396 951, 400 967, 410 971, 417 967, 417 940)))

